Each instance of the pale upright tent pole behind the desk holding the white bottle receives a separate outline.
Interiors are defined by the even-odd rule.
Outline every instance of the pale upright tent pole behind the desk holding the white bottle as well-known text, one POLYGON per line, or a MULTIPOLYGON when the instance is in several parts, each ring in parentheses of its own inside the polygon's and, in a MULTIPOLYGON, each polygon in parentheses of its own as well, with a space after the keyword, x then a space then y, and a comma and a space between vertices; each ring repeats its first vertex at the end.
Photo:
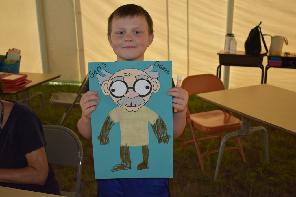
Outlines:
MULTIPOLYGON (((234 0, 228 0, 227 3, 227 18, 226 18, 226 34, 232 33, 232 23, 233 23, 233 9, 234 9, 234 0)), ((229 87, 229 66, 224 66, 224 77, 223 83, 225 89, 229 87)))

